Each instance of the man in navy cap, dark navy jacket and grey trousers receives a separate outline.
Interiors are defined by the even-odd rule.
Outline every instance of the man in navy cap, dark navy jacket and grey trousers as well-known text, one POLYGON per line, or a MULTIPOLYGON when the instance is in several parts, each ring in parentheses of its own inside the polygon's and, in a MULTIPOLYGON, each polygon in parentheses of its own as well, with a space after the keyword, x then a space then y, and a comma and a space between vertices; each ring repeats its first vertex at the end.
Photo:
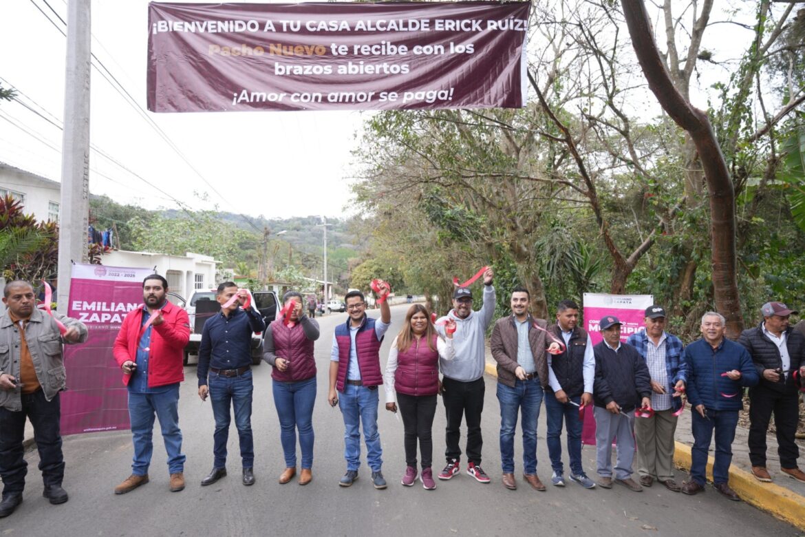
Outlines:
POLYGON ((615 481, 634 492, 642 486, 632 479, 634 414, 638 404, 650 411, 651 377, 646 361, 631 345, 621 345, 621 321, 605 316, 599 323, 604 341, 592 348, 596 376, 592 387, 596 417, 598 485, 612 488, 612 443, 616 440, 615 481))

